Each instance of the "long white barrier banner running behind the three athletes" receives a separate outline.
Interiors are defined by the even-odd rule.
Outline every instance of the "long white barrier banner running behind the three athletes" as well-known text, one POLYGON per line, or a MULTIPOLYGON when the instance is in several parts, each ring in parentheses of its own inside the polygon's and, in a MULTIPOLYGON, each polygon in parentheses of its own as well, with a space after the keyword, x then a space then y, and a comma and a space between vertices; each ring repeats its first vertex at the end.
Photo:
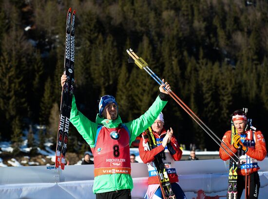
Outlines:
MULTIPOLYGON (((148 171, 143 163, 132 163, 133 199, 147 190, 148 171)), ((222 160, 179 161, 175 163, 179 184, 188 199, 224 199, 228 187, 229 162, 222 160)), ((259 199, 268 196, 268 158, 259 162, 259 199)), ((92 192, 94 165, 0 167, 1 199, 95 199, 92 192)), ((244 194, 241 198, 244 198, 244 194)))

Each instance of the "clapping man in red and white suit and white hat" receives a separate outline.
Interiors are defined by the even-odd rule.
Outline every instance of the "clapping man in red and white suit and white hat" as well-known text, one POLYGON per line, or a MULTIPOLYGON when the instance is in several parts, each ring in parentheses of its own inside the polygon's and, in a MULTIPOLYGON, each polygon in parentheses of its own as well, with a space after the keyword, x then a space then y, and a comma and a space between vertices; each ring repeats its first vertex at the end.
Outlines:
POLYGON ((177 140, 173 136, 172 128, 166 131, 163 125, 164 116, 161 112, 152 125, 153 136, 156 140, 157 147, 149 150, 143 138, 141 138, 139 144, 140 158, 144 163, 147 163, 149 172, 149 186, 146 198, 163 199, 157 173, 152 163, 155 156, 161 155, 162 162, 164 163, 165 169, 168 173, 169 181, 171 182, 172 192, 175 194, 176 199, 186 199, 184 192, 177 183, 178 175, 174 167, 174 161, 179 161, 181 159, 182 150, 179 148, 177 140))

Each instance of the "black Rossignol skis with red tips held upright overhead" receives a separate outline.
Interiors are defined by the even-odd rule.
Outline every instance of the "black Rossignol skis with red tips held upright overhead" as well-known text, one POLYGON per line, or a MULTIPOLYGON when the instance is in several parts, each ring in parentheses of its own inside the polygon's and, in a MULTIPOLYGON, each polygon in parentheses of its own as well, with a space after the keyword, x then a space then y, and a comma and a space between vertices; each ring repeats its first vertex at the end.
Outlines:
POLYGON ((66 159, 66 149, 68 143, 68 133, 70 125, 70 113, 72 109, 72 97, 74 93, 74 67, 75 67, 75 19, 76 10, 72 13, 69 8, 66 19, 66 39, 64 54, 64 74, 67 75, 65 84, 61 92, 60 113, 57 131, 57 148, 55 166, 63 170, 66 159))

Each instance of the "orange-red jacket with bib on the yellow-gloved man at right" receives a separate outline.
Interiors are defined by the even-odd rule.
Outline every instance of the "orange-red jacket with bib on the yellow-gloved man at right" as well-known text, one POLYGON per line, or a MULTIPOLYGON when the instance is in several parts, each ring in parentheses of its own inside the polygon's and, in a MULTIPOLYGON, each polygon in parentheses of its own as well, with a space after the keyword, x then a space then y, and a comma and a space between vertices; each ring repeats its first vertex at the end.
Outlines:
MULTIPOLYGON (((242 143, 248 147, 247 153, 237 150, 233 145, 231 145, 231 131, 227 131, 222 141, 232 150, 233 153, 238 153, 238 157, 241 161, 245 162, 245 164, 241 165, 241 168, 237 169, 238 175, 246 175, 246 172, 253 173, 257 172, 260 167, 258 166, 258 161, 264 160, 266 156, 266 143, 264 136, 261 131, 245 131, 243 134, 239 134, 241 137, 242 143)), ((221 144, 225 149, 226 146, 221 144)), ((228 153, 233 156, 233 154, 227 149, 228 153)), ((220 148, 220 158, 224 161, 230 159, 230 156, 220 148)), ((248 174, 249 174, 248 173, 248 174)))

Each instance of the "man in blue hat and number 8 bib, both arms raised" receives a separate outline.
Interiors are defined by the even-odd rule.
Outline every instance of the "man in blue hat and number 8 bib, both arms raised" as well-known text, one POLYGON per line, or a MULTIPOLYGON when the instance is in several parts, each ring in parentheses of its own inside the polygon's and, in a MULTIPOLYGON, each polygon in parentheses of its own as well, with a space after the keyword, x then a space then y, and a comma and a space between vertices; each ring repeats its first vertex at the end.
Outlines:
MULTIPOLYGON (((61 76, 63 86, 66 75, 61 76)), ((164 80, 163 80, 164 81, 164 80)), ((168 83, 166 90, 170 90, 168 83)), ((167 104, 167 91, 159 87, 160 94, 153 105, 139 118, 122 123, 115 98, 104 95, 99 102, 96 122, 90 121, 77 110, 73 97, 71 123, 90 145, 94 155, 94 185, 96 199, 131 199, 130 145, 149 127, 167 104)))

